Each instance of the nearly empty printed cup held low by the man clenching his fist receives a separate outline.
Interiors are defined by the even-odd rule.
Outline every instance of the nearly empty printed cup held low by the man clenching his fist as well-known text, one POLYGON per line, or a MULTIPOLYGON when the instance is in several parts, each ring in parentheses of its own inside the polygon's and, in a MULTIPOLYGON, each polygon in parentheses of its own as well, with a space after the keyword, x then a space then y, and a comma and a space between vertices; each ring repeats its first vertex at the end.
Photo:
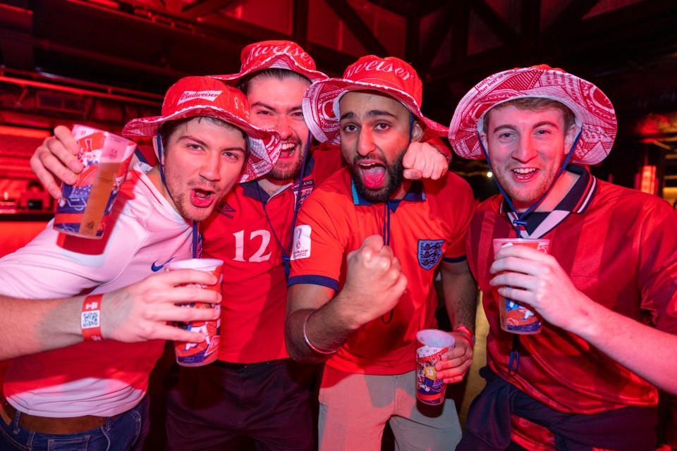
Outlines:
POLYGON ((420 402, 439 405, 444 402, 446 383, 437 378, 435 364, 456 342, 449 333, 423 329, 416 334, 416 397, 420 402))

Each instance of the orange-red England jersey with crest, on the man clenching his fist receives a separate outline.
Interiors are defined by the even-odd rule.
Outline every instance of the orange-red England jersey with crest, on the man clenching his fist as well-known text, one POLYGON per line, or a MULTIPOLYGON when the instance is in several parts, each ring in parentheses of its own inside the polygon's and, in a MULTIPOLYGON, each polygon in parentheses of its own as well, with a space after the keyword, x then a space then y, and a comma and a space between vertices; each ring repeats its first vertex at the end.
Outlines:
POLYGON ((370 235, 384 236, 408 280, 392 319, 387 321, 386 314, 362 326, 327 365, 380 375, 415 369, 415 335, 437 325, 435 269, 443 258, 465 259, 474 209, 470 185, 453 173, 415 181, 401 201, 378 204, 360 197, 347 168, 315 190, 298 215, 289 285, 312 283, 340 291, 348 253, 370 235))

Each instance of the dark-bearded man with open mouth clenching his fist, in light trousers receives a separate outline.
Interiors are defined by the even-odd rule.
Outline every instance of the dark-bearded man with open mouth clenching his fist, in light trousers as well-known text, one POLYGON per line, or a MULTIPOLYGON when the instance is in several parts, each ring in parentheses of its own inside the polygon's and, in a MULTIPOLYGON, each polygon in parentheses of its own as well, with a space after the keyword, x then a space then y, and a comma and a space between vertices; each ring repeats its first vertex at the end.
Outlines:
POLYGON ((475 201, 457 175, 403 177, 410 143, 446 134, 422 115, 421 99, 411 66, 376 56, 315 82, 303 99, 315 137, 340 144, 348 163, 300 210, 288 288, 287 350, 325 362, 322 450, 380 450, 386 422, 399 449, 448 449, 461 438, 453 402, 416 401, 415 335, 437 326, 439 271, 456 347, 435 365, 437 378, 463 378, 475 326, 465 263, 475 201))

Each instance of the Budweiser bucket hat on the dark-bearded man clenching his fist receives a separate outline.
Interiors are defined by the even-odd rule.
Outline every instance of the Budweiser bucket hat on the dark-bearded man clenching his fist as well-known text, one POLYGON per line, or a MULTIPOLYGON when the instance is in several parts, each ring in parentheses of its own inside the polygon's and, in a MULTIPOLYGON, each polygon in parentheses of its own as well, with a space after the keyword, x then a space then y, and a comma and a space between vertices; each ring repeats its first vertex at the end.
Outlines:
POLYGON ((425 137, 444 136, 448 129, 421 113, 423 83, 413 67, 400 58, 362 56, 343 73, 343 78, 315 82, 303 97, 303 116, 320 142, 339 144, 338 101, 349 91, 378 91, 405 106, 423 123, 425 137))

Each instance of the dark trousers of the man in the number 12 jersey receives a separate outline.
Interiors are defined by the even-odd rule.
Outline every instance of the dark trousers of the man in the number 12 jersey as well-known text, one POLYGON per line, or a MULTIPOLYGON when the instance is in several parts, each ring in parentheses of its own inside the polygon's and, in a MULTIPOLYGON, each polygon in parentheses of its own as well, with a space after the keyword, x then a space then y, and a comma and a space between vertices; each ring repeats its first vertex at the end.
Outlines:
POLYGON ((316 366, 291 359, 178 369, 167 394, 169 450, 224 450, 243 437, 258 450, 312 450, 316 366))

